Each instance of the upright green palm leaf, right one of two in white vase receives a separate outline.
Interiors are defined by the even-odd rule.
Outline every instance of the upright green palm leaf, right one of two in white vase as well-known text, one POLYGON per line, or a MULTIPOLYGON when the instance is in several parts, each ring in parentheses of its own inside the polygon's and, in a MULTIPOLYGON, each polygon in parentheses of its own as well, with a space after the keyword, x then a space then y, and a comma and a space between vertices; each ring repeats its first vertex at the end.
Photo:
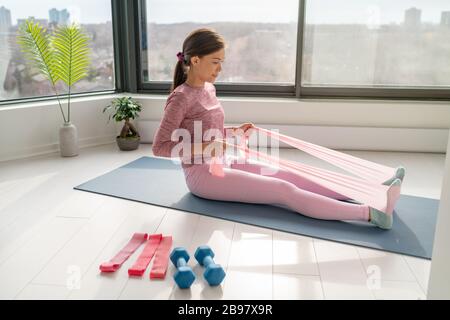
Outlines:
POLYGON ((58 61, 55 74, 69 88, 67 103, 68 121, 70 121, 70 91, 72 86, 83 79, 89 70, 88 37, 81 29, 72 24, 58 28, 52 43, 58 61))

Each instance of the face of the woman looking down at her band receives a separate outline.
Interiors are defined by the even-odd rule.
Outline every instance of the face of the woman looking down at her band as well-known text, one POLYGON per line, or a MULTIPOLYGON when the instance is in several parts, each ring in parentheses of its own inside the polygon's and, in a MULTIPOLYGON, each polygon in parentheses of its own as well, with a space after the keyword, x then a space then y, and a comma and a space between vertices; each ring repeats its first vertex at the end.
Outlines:
POLYGON ((225 60, 225 49, 203 56, 193 57, 194 73, 202 81, 214 83, 222 71, 222 63, 225 60))

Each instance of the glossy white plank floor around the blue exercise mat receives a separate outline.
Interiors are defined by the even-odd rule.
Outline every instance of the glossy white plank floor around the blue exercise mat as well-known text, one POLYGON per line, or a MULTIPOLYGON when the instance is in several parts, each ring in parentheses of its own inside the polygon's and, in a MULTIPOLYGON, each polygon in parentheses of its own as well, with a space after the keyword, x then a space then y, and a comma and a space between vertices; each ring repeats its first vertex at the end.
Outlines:
MULTIPOLYGON (((346 152, 407 168, 402 193, 438 199, 445 154, 346 152)), ((141 156, 115 144, 0 163, 0 299, 425 299, 430 261, 316 240, 201 215, 121 200, 73 187, 141 156), (114 274, 109 260, 134 232, 172 235, 194 252, 211 245, 226 268, 221 286, 197 274, 190 290, 172 280, 129 278, 138 252, 114 274), (381 279, 380 281, 378 279, 381 279)), ((292 149, 284 158, 324 168, 292 149)), ((132 186, 130 186, 132 187, 132 186)))

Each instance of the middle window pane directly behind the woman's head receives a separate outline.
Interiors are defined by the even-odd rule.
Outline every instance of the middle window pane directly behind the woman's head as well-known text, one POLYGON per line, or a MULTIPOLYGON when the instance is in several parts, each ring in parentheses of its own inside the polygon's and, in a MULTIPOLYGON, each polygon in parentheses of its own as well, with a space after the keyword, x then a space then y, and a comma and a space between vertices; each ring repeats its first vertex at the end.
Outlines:
POLYGON ((176 54, 194 29, 227 43, 217 83, 295 83, 298 0, 146 0, 141 51, 144 82, 173 80, 176 54))

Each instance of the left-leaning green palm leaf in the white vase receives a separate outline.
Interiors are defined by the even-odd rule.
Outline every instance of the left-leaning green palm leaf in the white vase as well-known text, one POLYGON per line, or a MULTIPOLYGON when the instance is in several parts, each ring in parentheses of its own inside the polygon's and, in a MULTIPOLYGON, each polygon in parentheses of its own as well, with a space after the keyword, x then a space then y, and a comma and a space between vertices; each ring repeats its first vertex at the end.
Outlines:
POLYGON ((26 20, 24 24, 19 27, 19 34, 17 36, 22 52, 31 66, 36 67, 49 81, 55 91, 58 99, 59 108, 63 115, 64 121, 66 118, 61 107, 58 91, 56 90, 56 82, 59 80, 56 72, 58 62, 54 56, 54 49, 51 45, 46 29, 35 23, 33 20, 26 20))

